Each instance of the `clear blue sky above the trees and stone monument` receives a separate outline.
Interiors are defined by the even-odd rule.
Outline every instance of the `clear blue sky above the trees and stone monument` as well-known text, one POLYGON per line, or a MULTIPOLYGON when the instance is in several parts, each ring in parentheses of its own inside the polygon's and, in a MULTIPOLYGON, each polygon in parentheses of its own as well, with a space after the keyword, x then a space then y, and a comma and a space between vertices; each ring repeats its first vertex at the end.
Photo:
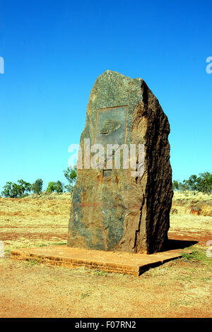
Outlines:
POLYGON ((95 79, 143 78, 170 121, 173 179, 211 172, 212 4, 0 1, 1 163, 7 182, 66 183, 95 79))

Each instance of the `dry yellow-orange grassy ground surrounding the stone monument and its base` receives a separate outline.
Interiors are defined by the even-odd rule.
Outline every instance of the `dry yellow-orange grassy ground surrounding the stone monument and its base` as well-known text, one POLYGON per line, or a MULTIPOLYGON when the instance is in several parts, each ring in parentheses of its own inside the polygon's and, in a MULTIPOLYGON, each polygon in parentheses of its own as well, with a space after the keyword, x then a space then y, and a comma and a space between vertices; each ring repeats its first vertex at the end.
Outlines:
MULTIPOLYGON (((6 250, 66 242, 69 200, 0 198, 0 205, 6 250)), ((190 218, 194 232, 185 228, 187 219, 179 218, 182 228, 174 220, 172 246, 193 241, 206 252, 211 217, 190 218)), ((0 258, 0 317, 212 317, 211 279, 212 268, 202 261, 177 259, 137 277, 12 261, 6 251, 0 258)))

